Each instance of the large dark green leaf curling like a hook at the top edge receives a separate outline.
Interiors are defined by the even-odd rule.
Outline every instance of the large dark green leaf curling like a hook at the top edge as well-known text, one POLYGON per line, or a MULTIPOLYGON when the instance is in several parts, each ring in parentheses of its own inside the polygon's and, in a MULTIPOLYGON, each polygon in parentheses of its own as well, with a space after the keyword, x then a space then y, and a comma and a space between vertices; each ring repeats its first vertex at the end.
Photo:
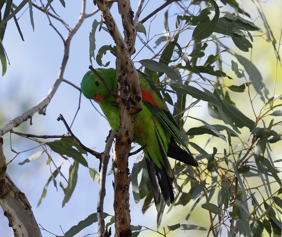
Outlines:
POLYGON ((214 0, 209 1, 213 4, 215 8, 215 15, 211 21, 210 18, 206 18, 204 21, 202 21, 199 25, 196 26, 192 34, 192 40, 202 40, 209 37, 217 26, 217 21, 219 18, 219 7, 217 6, 214 0))

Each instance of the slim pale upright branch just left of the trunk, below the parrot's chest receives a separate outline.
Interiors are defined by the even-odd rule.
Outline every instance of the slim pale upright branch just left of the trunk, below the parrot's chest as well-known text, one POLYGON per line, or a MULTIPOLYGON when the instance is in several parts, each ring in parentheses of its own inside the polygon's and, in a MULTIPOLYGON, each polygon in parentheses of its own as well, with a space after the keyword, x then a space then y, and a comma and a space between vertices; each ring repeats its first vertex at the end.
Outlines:
POLYGON ((115 132, 113 130, 110 131, 109 136, 106 139, 106 147, 101 156, 101 168, 100 168, 100 181, 99 181, 99 194, 98 194, 98 204, 97 204, 97 220, 98 220, 98 237, 107 237, 105 234, 105 220, 104 220, 104 198, 106 195, 106 175, 107 175, 107 166, 110 159, 110 150, 113 144, 115 132))

